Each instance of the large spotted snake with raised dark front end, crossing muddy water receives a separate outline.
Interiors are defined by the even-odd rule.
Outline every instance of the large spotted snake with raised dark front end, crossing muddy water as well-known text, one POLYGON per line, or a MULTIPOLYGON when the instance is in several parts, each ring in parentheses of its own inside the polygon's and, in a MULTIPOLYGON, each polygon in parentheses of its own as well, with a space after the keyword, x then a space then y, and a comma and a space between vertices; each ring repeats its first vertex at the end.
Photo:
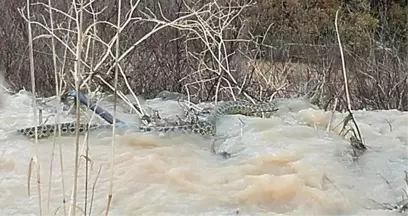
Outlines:
MULTIPOLYGON (((72 97, 79 97, 79 101, 86 105, 89 109, 98 114, 109 124, 76 124, 75 122, 61 123, 57 124, 45 124, 36 127, 28 127, 17 130, 19 133, 23 134, 29 138, 35 138, 35 129, 37 128, 38 138, 47 138, 53 136, 56 133, 58 126, 61 129, 62 136, 72 136, 76 133, 76 128, 78 127, 80 134, 85 134, 89 131, 95 131, 98 129, 111 129, 113 124, 113 116, 96 104, 88 103, 87 98, 82 93, 71 92, 69 93, 72 97)), ((122 129, 131 129, 141 132, 182 132, 182 133, 195 133, 201 135, 215 135, 216 134, 216 123, 220 116, 222 115, 232 115, 241 114, 246 116, 259 115, 264 112, 274 112, 274 103, 258 103, 252 104, 246 101, 227 101, 218 104, 210 113, 207 120, 196 120, 191 124, 168 126, 168 127, 157 127, 157 126, 138 126, 133 123, 125 123, 120 119, 116 119, 116 127, 122 129)))

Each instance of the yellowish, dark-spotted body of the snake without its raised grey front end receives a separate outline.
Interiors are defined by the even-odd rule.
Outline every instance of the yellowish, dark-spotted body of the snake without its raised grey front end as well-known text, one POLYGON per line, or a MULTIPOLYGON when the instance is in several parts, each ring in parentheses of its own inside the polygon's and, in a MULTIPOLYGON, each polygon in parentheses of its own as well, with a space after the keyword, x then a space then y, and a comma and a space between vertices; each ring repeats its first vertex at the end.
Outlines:
MULTIPOLYGON (((217 105, 211 112, 207 120, 196 120, 192 124, 177 125, 177 126, 139 126, 139 131, 142 132, 159 132, 159 133, 169 133, 169 132, 181 132, 181 133, 194 133, 200 135, 216 135, 216 123, 219 117, 223 115, 235 115, 241 114, 246 116, 259 116, 259 114, 265 112, 274 112, 274 103, 258 103, 252 104, 245 101, 227 101, 217 105)), ((61 125, 61 135, 62 136, 72 136, 75 135, 75 123, 62 123, 61 125)), ((125 127, 133 127, 132 125, 123 125, 125 127)), ((137 127, 137 126, 135 126, 137 127)), ((109 129, 112 125, 99 125, 99 124, 80 124, 79 132, 80 134, 85 134, 88 131, 94 131, 97 129, 109 129)), ((54 135, 56 130, 55 124, 48 124, 37 126, 38 138, 47 138, 54 135)), ((19 133, 26 137, 34 138, 35 127, 29 127, 25 129, 18 130, 19 133)))

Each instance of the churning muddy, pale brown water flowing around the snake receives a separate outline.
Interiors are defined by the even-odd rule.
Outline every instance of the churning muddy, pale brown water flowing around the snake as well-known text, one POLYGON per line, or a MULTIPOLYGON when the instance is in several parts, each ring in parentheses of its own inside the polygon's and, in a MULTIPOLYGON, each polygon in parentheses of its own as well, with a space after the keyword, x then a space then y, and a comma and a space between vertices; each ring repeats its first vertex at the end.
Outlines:
MULTIPOLYGON (((40 165, 42 212, 64 215, 61 174, 69 202, 75 138, 57 138, 52 156, 52 137, 35 145, 34 140, 16 132, 36 125, 31 96, 20 92, 4 100, 0 114, 0 215, 39 214, 35 168, 30 196, 27 184, 30 158, 35 155, 40 165)), ((109 111, 113 108, 109 100, 100 105, 109 111)), ((145 106, 159 110, 162 117, 183 115, 176 101, 157 98, 147 100, 145 106)), ((215 142, 215 150, 231 153, 228 159, 213 154, 214 141, 198 135, 118 134, 110 215, 397 214, 381 204, 392 206, 402 199, 404 171, 408 170, 407 113, 355 111, 367 144, 367 151, 356 161, 349 142, 338 135, 340 127, 326 132, 330 112, 304 99, 279 100, 278 108, 270 118, 230 115, 219 120, 217 134, 222 139, 215 142)), ((118 112, 122 120, 139 121, 124 106, 118 112)), ((43 115, 45 119, 51 113, 43 115)), ((345 115, 336 113, 332 125, 345 115)), ((62 122, 73 120, 73 115, 63 113, 62 122)), ((96 117, 94 121, 103 122, 96 117)), ((54 122, 54 117, 48 122, 54 122)), ((81 148, 77 215, 85 210, 87 215, 101 215, 105 209, 111 140, 110 132, 90 134, 88 181, 86 149, 81 148)))

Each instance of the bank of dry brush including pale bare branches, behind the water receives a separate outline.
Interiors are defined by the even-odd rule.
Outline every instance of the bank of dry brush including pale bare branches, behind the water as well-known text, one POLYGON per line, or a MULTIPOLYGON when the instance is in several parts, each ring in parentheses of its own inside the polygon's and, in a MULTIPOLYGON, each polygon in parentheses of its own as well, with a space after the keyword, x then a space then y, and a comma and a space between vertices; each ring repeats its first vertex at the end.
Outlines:
MULTIPOLYGON (((90 90, 112 89, 118 38, 115 2, 85 1, 84 67, 79 78, 82 87, 90 90)), ((36 82, 41 95, 55 95, 55 76, 60 88, 73 86, 79 7, 74 3, 55 1, 51 25, 48 4, 32 2, 36 82), (56 39, 58 75, 53 72, 51 36, 56 39)), ((27 17, 20 11, 25 2, 17 0, 11 5, 3 0, 0 5, 7 23, 0 24, 0 57, 6 80, 16 90, 30 89, 24 42, 27 17)), ((119 90, 148 98, 169 90, 198 100, 307 94, 328 109, 334 98, 344 102, 334 30, 334 13, 339 6, 353 108, 405 110, 406 5, 394 2, 381 6, 368 1, 342 5, 335 0, 125 1, 118 27, 119 90)), ((339 108, 345 108, 344 104, 339 108)))

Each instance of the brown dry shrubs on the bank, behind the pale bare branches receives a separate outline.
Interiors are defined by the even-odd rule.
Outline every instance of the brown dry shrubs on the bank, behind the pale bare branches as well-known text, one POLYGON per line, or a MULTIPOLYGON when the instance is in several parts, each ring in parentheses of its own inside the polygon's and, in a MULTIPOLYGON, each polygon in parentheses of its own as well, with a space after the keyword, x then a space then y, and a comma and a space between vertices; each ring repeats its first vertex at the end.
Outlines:
MULTIPOLYGON (((200 8, 208 2, 143 1, 135 13, 143 15, 142 12, 149 8, 159 19, 174 20, 181 15, 179 12, 186 12, 186 5, 200 8)), ((232 7, 243 1, 218 3, 232 7)), ((0 14, 4 20, 0 23, 0 58, 4 59, 5 79, 16 90, 30 89, 26 23, 18 12, 24 4, 22 0, 13 3, 0 0, 0 14)), ((56 1, 55 5, 65 10, 69 3, 56 1)), ((230 39, 225 41, 228 55, 225 60, 229 61, 231 77, 225 73, 217 75, 213 70, 217 69, 218 62, 209 56, 202 41, 177 28, 165 28, 149 37, 121 61, 121 66, 132 90, 147 98, 162 90, 187 93, 188 87, 196 99, 213 100, 218 94, 216 85, 221 83, 219 99, 232 98, 228 89, 228 85, 232 85, 232 91, 238 97, 244 93, 262 99, 312 93, 319 98, 318 104, 327 109, 333 98, 341 99, 344 94, 333 24, 335 11, 340 5, 343 6, 340 34, 346 51, 353 107, 406 110, 408 60, 404 56, 408 53, 408 9, 401 1, 391 1, 387 5, 375 4, 375 1, 257 1, 233 20, 223 33, 224 39, 230 39)), ((115 22, 115 1, 99 1, 94 7, 95 10, 106 7, 98 15, 99 20, 115 22)), ((128 3, 123 4, 123 9, 127 8, 128 3)), ((41 20, 44 15, 38 6, 33 7, 32 13, 34 20, 41 20)), ((46 15, 45 19, 48 19, 46 15)), ((57 16, 55 20, 60 24, 65 22, 63 17, 57 16)), ((85 23, 90 22, 92 17, 86 16, 85 23)), ((153 27, 154 24, 149 22, 132 23, 123 33, 121 47, 133 44, 153 27)), ((36 27, 33 31, 34 35, 43 33, 36 27)), ((115 34, 115 30, 107 25, 99 25, 98 32, 103 32, 100 34, 103 40, 115 34)), ((34 45, 38 94, 53 95, 49 40, 36 40, 34 45)), ((95 58, 101 55, 98 50, 102 48, 97 45, 95 58)), ((57 53, 61 52, 62 47, 57 46, 57 53)), ((67 82, 72 79, 69 73, 72 59, 73 56, 66 59, 67 82)), ((113 72, 108 71, 112 64, 107 63, 98 71, 84 71, 84 74, 98 74, 112 83, 113 72)), ((103 84, 93 79, 92 85, 94 88, 103 84)), ((119 88, 128 92, 123 78, 119 80, 119 88)))

